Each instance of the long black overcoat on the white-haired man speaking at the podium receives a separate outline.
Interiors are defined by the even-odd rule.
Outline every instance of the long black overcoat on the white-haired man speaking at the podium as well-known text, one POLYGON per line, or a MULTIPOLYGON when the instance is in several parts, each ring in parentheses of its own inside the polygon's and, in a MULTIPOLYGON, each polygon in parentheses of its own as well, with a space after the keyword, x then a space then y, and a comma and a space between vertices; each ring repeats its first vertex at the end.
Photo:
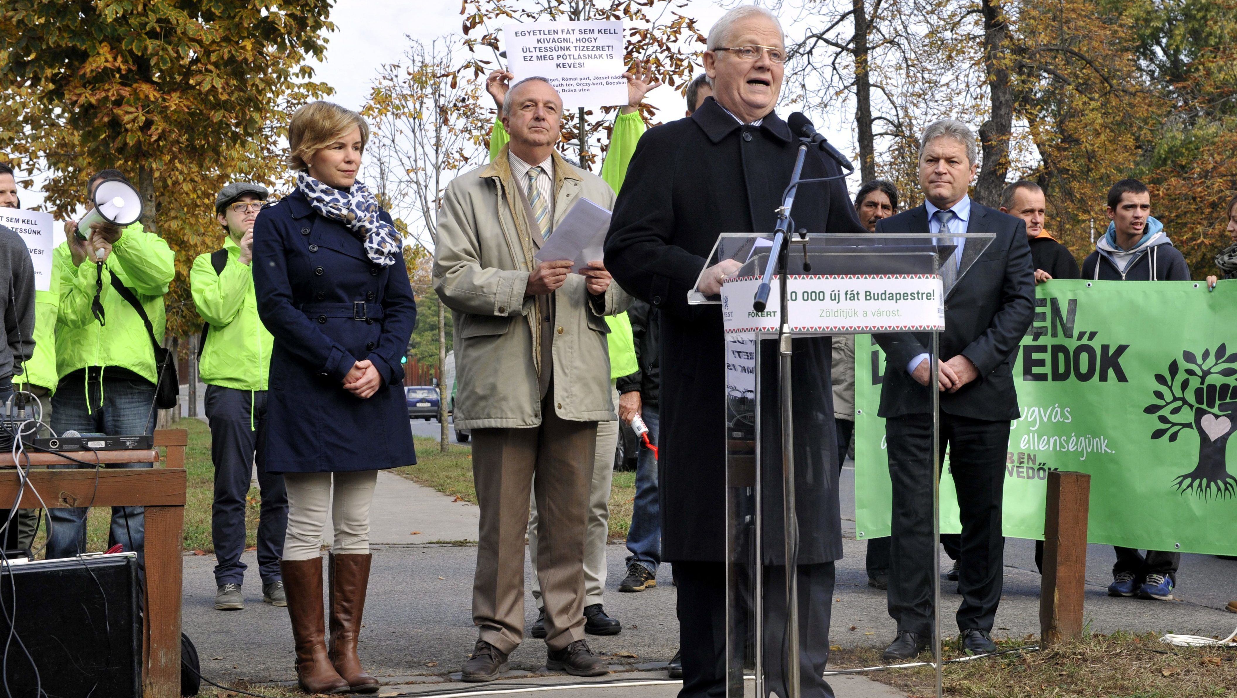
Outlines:
MULTIPOLYGON (((667 561, 725 559, 721 307, 689 306, 687 295, 720 233, 773 230, 798 146, 777 114, 769 113, 760 126, 741 125, 709 98, 690 118, 649 129, 640 139, 615 204, 606 267, 628 293, 661 311, 658 476, 667 561)), ((824 153, 809 151, 804 178, 839 172, 824 153)), ((795 226, 809 233, 865 233, 840 179, 804 184, 792 214, 795 226)), ((816 353, 816 379, 828 385, 829 339, 821 342, 826 350, 816 353)), ((823 428, 830 431, 821 448, 834 442, 831 420, 823 428)), ((829 496, 836 507, 836 488, 829 496)), ((800 559, 840 557, 835 532, 820 540, 826 547, 803 551, 800 559)))

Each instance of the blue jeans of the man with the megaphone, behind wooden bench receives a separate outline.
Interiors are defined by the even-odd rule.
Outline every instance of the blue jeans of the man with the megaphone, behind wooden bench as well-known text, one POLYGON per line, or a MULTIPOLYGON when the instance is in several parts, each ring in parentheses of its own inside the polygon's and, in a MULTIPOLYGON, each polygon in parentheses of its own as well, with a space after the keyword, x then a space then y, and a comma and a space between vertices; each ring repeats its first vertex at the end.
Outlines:
MULTIPOLYGON (((92 376, 89 382, 75 374, 61 381, 52 396, 52 428, 63 434, 68 429, 109 436, 155 433, 155 384, 148 380, 92 376), (89 387, 89 396, 87 390, 89 387), (89 399, 89 402, 88 402, 89 399)), ((106 468, 152 468, 153 463, 124 463, 106 468)), ((90 468, 78 463, 56 468, 90 468)), ((84 506, 47 510, 47 558, 73 557, 85 552, 84 506)), ((139 566, 145 548, 145 507, 113 506, 108 546, 120 543, 126 552, 136 552, 139 566)))

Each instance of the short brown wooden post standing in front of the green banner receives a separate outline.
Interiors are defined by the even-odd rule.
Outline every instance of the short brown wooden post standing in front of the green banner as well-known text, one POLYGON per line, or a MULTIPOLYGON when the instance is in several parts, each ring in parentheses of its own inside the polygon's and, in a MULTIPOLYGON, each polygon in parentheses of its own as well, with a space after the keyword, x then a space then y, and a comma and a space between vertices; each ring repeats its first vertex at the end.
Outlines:
POLYGON ((1039 589, 1042 647, 1082 636, 1086 524, 1091 475, 1048 473, 1044 506, 1044 572, 1039 589))

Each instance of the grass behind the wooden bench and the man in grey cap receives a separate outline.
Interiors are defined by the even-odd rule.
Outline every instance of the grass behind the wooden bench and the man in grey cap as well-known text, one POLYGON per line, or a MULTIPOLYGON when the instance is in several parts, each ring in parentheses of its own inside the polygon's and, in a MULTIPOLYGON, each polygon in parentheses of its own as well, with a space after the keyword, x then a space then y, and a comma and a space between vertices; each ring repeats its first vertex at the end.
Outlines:
MULTIPOLYGON (((215 467, 210 462, 210 427, 197 418, 183 418, 173 428, 189 431, 189 446, 186 448, 184 469, 188 489, 184 502, 184 549, 202 553, 215 552, 210 542, 210 505, 214 502, 215 467)), ((257 514, 260 499, 257 488, 249 490, 245 502, 245 547, 251 548, 257 541, 257 514)), ((108 531, 111 525, 110 506, 92 506, 87 516, 87 552, 108 549, 108 531)), ((46 520, 35 538, 35 548, 43 546, 46 540, 46 520)))

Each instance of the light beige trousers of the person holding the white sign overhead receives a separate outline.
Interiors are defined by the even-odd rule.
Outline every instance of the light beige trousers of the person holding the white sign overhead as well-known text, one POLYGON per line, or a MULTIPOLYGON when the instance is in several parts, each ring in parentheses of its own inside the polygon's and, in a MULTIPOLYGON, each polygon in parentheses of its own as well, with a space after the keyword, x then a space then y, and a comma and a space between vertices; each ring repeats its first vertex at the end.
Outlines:
MULTIPOLYGON (((615 410, 618 391, 614 389, 615 410)), ((610 484, 615 475, 615 450, 618 448, 618 422, 597 422, 597 446, 593 458, 593 483, 589 485, 589 524, 584 538, 584 605, 601 603, 606 588, 606 542, 610 540, 610 484)), ((537 501, 528 516, 528 557, 537 566, 537 501)), ((533 578, 533 600, 542 608, 541 584, 533 578)))

